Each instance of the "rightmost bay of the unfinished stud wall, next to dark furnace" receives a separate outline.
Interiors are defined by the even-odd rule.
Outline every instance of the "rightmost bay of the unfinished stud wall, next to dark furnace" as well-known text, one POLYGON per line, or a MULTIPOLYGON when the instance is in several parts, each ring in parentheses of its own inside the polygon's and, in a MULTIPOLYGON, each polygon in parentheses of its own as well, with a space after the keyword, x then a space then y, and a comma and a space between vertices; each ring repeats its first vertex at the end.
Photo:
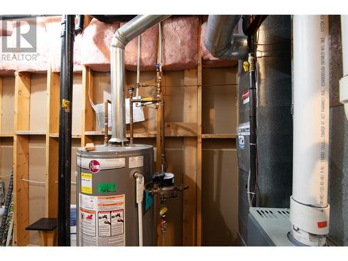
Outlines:
POLYGON ((233 246, 238 231, 236 68, 202 75, 202 217, 204 246, 233 246))

